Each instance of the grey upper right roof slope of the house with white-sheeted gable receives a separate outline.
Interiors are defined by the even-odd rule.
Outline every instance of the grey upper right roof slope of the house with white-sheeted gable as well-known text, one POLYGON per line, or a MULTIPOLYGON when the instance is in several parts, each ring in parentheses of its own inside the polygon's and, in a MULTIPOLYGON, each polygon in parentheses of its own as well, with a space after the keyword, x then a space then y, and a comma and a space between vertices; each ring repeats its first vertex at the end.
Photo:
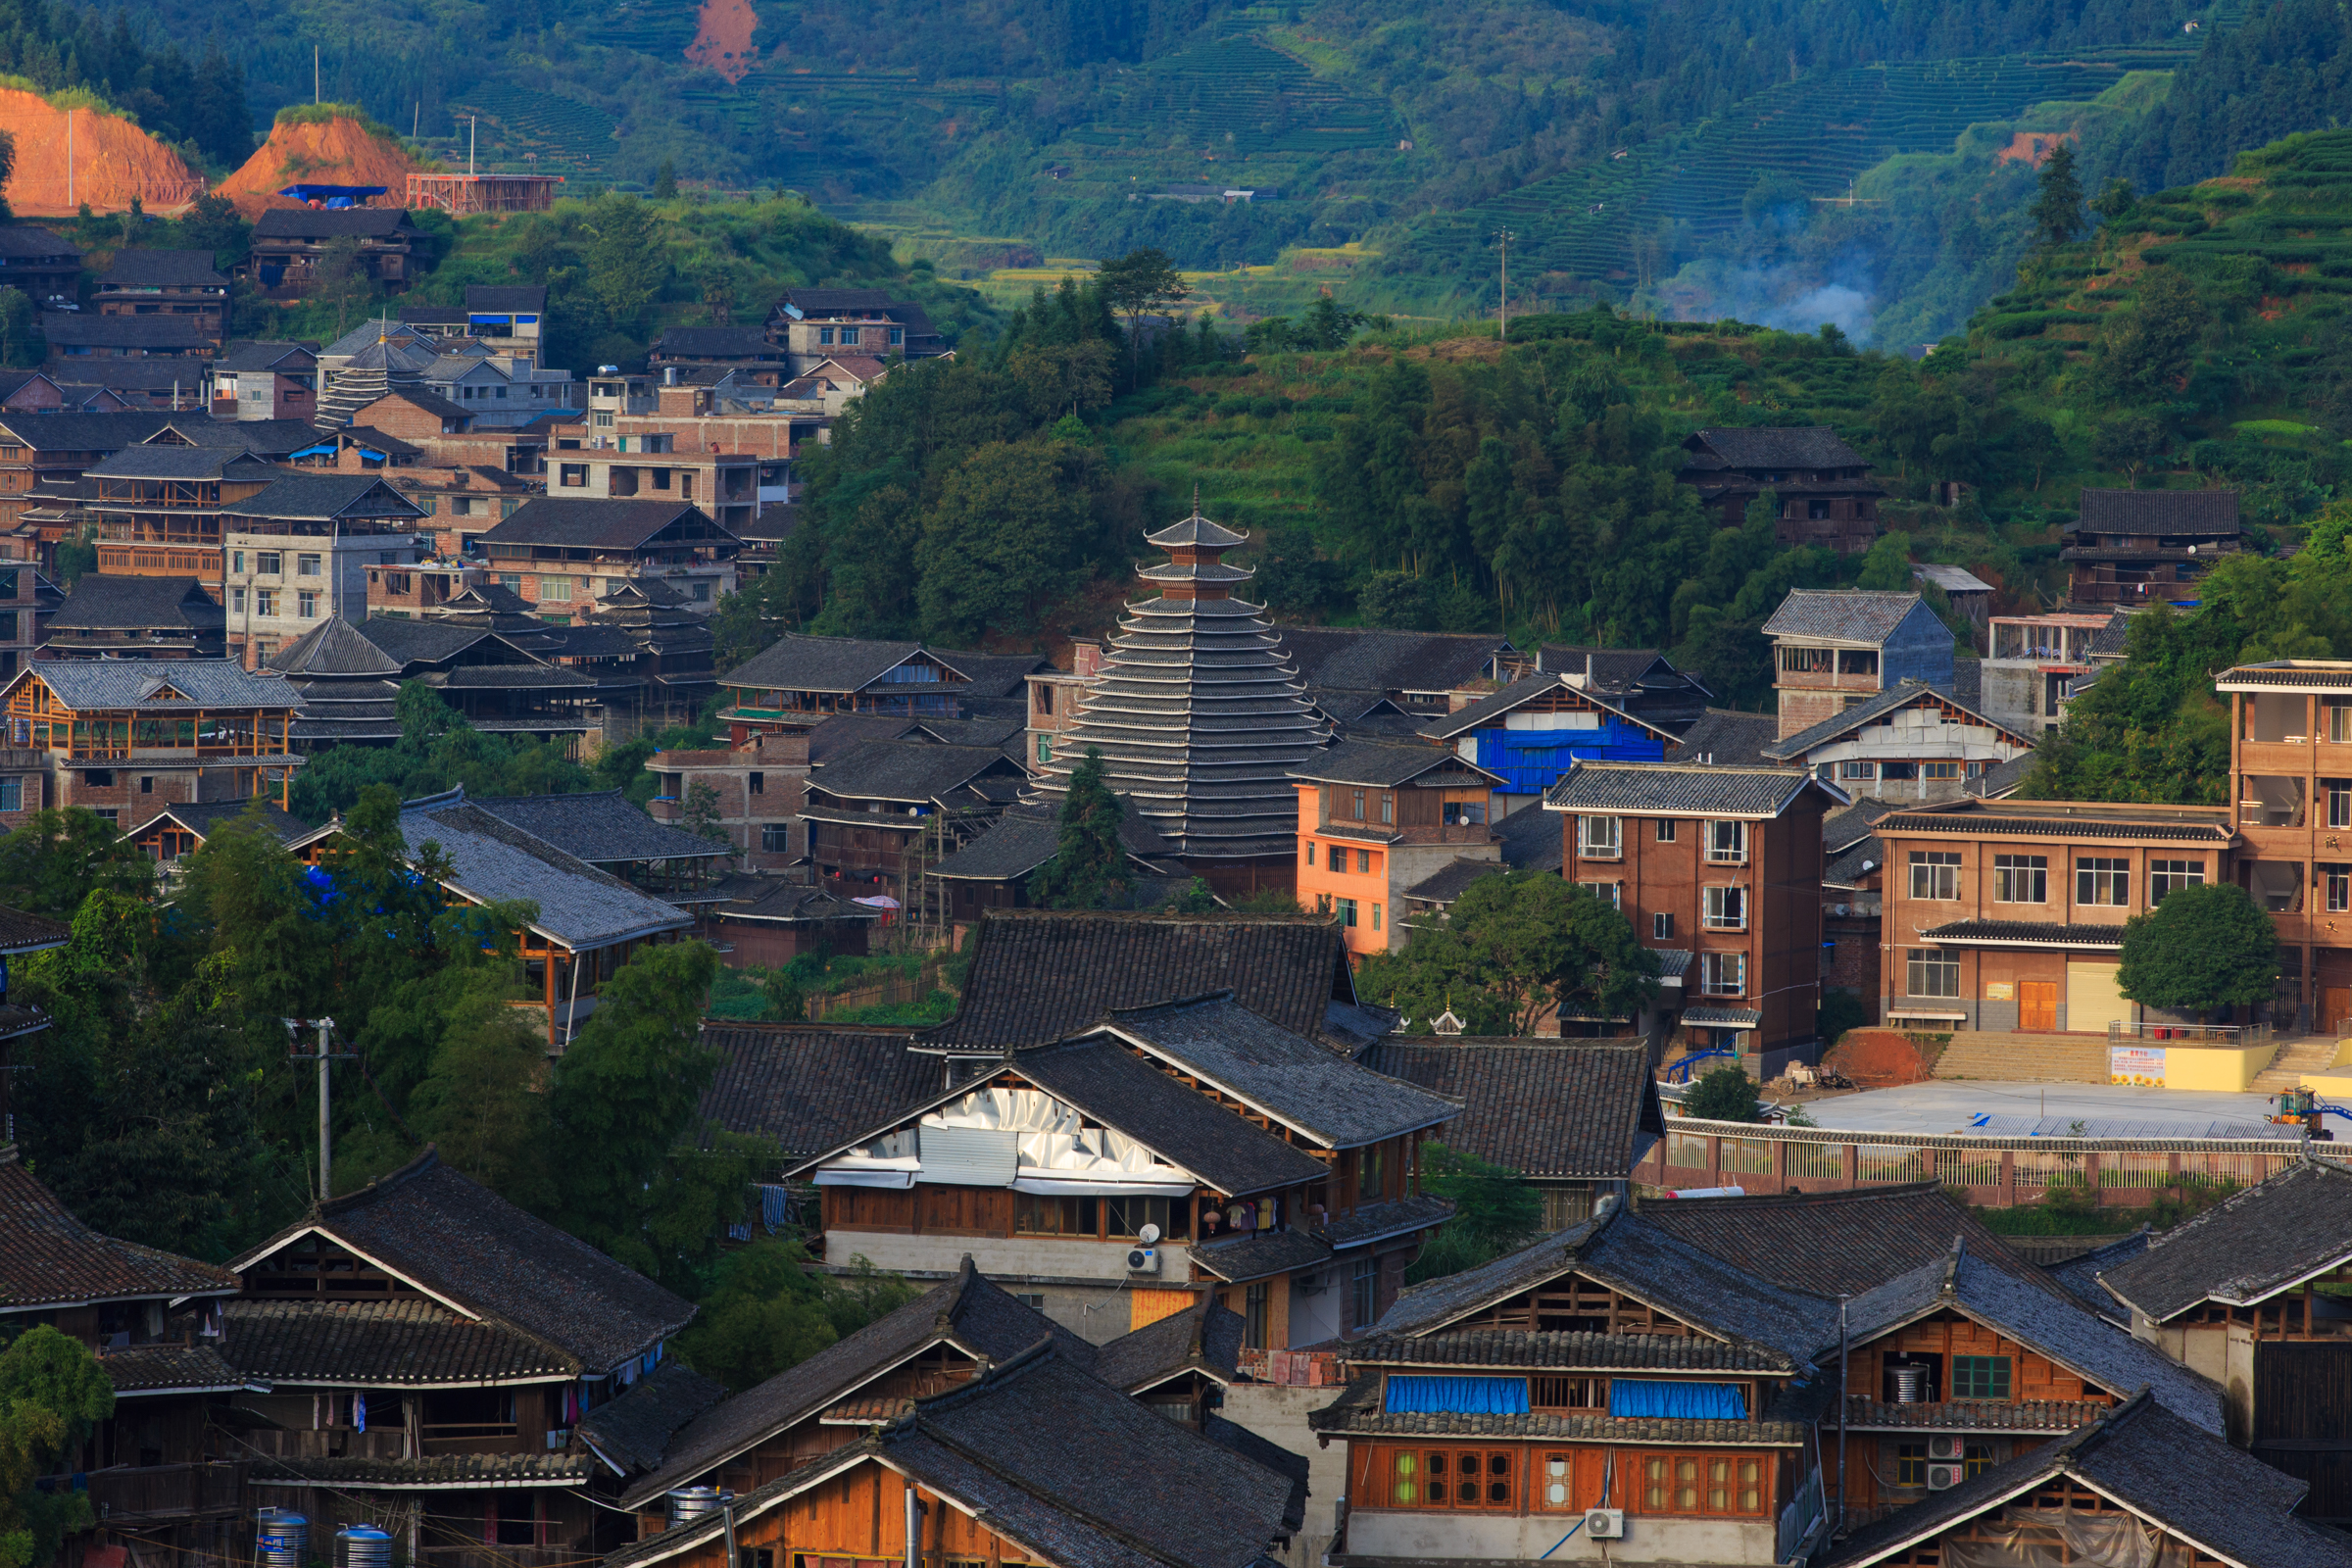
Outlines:
POLYGON ((1214 1084, 1324 1147, 1352 1150, 1451 1121, 1461 1112, 1461 1100, 1383 1077, 1258 1018, 1230 990, 1117 1009, 1105 1023, 1178 1072, 1214 1084))

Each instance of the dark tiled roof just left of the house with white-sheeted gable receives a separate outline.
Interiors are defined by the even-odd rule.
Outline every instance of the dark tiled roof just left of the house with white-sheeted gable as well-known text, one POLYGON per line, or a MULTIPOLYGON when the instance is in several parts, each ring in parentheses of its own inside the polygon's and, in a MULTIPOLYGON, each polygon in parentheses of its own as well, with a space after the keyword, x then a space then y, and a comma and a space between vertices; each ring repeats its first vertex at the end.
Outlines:
POLYGON ((936 1056, 915 1056, 906 1030, 828 1030, 821 1023, 703 1025, 720 1070, 701 1117, 729 1133, 774 1138, 786 1159, 837 1150, 938 1095, 936 1056))

